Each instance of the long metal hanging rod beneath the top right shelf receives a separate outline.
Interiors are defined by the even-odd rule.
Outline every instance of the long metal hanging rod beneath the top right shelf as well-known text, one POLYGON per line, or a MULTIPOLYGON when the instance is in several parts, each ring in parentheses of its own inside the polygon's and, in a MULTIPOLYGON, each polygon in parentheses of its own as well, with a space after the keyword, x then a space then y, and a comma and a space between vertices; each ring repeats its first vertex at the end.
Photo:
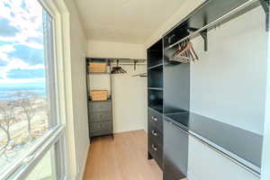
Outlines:
POLYGON ((247 6, 249 6, 251 4, 255 4, 258 1, 259 0, 249 0, 246 3, 239 5, 235 9, 231 10, 229 13, 222 15, 220 18, 216 19, 215 21, 213 21, 211 23, 206 24, 201 29, 199 29, 197 31, 194 31, 193 33, 191 33, 190 35, 184 37, 181 40, 176 41, 174 44, 168 46, 166 49, 171 49, 171 48, 175 47, 175 45, 179 44, 180 42, 183 42, 184 40, 192 39, 192 38, 194 38, 194 37, 196 37, 198 35, 201 35, 202 31, 207 31, 208 28, 211 28, 212 26, 216 25, 217 23, 222 22, 223 20, 225 20, 226 18, 228 18, 229 16, 231 16, 233 14, 237 14, 239 11, 245 9, 247 6))

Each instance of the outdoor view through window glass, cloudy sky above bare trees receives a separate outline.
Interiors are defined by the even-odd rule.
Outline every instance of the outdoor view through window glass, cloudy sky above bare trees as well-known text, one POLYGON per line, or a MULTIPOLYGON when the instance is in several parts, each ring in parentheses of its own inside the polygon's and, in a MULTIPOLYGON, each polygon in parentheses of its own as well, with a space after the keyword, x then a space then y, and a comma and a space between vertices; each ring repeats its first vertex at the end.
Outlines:
MULTIPOLYGON (((0 9, 1 174, 52 125, 46 89, 50 63, 45 53, 49 50, 44 49, 52 28, 49 14, 37 0, 0 0, 0 9)), ((39 159, 39 165, 25 179, 52 179, 49 155, 39 159)))

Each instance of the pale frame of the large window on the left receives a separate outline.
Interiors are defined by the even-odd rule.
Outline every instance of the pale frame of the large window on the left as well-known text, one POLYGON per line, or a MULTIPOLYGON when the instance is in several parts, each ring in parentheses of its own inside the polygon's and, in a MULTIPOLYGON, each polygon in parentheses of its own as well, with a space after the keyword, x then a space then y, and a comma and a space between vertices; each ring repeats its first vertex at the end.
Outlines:
MULTIPOLYGON (((49 34, 49 44, 48 47, 52 46, 52 49, 49 48, 49 61, 47 63, 49 72, 46 73, 46 81, 53 79, 53 84, 49 85, 49 92, 54 92, 55 94, 48 94, 49 96, 49 106, 52 110, 51 114, 54 117, 50 117, 49 120, 49 130, 43 134, 40 139, 37 140, 33 146, 28 150, 27 153, 21 155, 21 157, 14 162, 14 164, 7 166, 4 173, 0 175, 0 179, 24 179, 26 178, 31 171, 40 163, 42 157, 46 155, 51 148, 54 148, 54 165, 52 166, 55 169, 52 169, 55 172, 57 180, 67 179, 67 142, 66 137, 66 88, 63 76, 65 76, 63 69, 63 54, 62 54, 62 37, 58 37, 61 33, 57 30, 56 27, 62 29, 61 18, 59 14, 56 13, 56 6, 49 6, 52 2, 49 0, 37 0, 43 8, 43 11, 46 11, 47 14, 51 17, 51 33, 49 34), (59 25, 61 24, 61 25, 59 25), (57 60, 56 60, 57 59, 57 60), (52 67, 52 68, 51 68, 52 67), (48 76, 48 75, 49 76, 48 76)), ((45 45, 44 45, 45 46, 45 45)), ((44 53, 46 54, 46 53, 44 53)))

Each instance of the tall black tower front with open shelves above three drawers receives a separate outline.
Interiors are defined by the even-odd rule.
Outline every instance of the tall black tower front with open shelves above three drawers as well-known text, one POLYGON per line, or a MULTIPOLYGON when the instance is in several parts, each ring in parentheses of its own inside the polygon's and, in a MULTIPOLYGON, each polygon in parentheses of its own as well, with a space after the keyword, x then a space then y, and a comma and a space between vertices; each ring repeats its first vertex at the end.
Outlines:
POLYGON ((163 169, 163 40, 148 49, 148 158, 163 169))

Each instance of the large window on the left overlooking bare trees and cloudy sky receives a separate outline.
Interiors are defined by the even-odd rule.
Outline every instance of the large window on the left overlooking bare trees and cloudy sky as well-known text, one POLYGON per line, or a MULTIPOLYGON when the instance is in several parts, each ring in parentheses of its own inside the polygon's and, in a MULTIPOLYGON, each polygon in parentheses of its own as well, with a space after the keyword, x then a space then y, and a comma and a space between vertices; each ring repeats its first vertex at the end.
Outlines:
POLYGON ((53 18, 38 0, 0 9, 0 179, 54 180, 64 170, 53 18))

